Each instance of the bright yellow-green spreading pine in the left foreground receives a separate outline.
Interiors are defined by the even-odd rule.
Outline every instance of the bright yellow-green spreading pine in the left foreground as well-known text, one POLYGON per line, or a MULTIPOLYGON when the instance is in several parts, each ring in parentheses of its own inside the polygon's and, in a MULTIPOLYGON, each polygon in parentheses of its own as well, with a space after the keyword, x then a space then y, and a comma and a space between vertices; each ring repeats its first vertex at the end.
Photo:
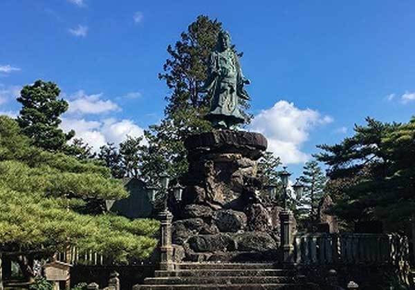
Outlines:
POLYGON ((89 213, 91 200, 119 200, 127 191, 109 168, 36 146, 15 120, 0 116, 0 251, 33 277, 29 260, 76 246, 109 263, 146 258, 158 222, 89 213))

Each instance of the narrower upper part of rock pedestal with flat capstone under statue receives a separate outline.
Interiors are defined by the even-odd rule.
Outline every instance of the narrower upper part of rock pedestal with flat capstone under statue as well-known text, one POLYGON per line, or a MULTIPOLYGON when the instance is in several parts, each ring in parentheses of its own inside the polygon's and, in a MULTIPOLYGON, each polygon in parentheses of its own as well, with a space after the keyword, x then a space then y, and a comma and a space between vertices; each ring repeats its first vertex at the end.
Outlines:
POLYGON ((212 131, 185 140, 189 172, 183 204, 243 211, 261 186, 257 160, 266 150, 263 135, 245 131, 212 131))

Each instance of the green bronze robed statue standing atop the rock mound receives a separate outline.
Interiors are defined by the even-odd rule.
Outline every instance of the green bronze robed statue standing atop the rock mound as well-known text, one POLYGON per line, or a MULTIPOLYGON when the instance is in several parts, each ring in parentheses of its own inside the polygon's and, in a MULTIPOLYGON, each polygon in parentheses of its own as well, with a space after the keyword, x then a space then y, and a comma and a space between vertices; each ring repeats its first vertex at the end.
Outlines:
POLYGON ((208 77, 201 93, 211 96, 210 112, 205 116, 215 128, 230 128, 245 122, 239 109, 240 99, 249 99, 243 89, 250 81, 243 77, 239 59, 232 50, 230 35, 221 31, 215 50, 210 56, 208 77))

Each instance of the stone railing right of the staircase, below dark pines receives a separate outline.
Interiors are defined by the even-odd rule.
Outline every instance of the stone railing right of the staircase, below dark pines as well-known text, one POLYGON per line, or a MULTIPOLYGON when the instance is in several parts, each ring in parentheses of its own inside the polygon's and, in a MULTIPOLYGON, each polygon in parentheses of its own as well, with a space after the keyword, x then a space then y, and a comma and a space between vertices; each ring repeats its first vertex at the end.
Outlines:
POLYGON ((295 264, 395 264, 409 260, 407 237, 396 234, 295 235, 295 264))

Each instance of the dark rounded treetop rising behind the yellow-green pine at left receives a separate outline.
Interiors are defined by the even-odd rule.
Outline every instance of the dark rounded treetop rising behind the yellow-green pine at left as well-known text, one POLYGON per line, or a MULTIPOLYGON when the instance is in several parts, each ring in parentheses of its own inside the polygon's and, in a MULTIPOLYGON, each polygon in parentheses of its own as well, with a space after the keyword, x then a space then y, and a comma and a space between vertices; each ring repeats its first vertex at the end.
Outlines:
POLYGON ((75 132, 64 133, 58 128, 59 116, 68 110, 68 103, 58 99, 60 90, 53 82, 42 80, 24 86, 20 97, 22 105, 17 122, 23 133, 33 138, 35 146, 48 151, 62 151, 75 132))

